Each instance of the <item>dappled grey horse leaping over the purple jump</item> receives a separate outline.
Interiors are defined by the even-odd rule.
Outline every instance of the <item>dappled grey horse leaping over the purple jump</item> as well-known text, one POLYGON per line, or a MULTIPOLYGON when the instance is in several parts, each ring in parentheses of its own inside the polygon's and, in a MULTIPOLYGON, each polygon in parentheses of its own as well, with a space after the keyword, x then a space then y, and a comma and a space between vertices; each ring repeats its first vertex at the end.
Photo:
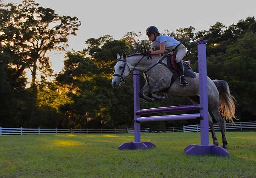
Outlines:
MULTIPOLYGON (((133 70, 146 71, 147 75, 144 74, 146 83, 139 92, 140 98, 153 102, 156 99, 168 99, 170 95, 187 96, 192 104, 199 104, 199 73, 195 73, 194 78, 186 77, 186 81, 189 83, 187 86, 181 86, 179 80, 176 80, 170 86, 174 73, 164 65, 156 65, 160 59, 163 59, 162 55, 151 55, 149 58, 143 54, 127 56, 125 51, 122 53, 122 57, 117 54, 117 62, 114 66, 111 82, 112 87, 119 88, 120 84, 125 81, 133 70), (146 95, 146 93, 148 94, 146 95)), ((162 62, 167 65, 167 57, 164 57, 162 62)), ((213 144, 218 145, 212 120, 214 118, 221 129, 222 147, 227 149, 224 119, 233 123, 233 118, 236 118, 236 99, 230 94, 228 83, 223 80, 212 80, 207 76, 207 90, 209 127, 213 144)))

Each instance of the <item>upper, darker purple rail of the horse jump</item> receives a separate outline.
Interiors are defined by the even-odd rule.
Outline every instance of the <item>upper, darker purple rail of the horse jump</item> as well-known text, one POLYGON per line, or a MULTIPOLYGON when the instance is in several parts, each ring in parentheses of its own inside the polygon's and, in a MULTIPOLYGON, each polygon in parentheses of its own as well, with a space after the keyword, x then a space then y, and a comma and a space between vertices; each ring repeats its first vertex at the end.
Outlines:
POLYGON ((186 111, 186 110, 198 110, 200 105, 181 105, 181 106, 169 106, 169 107, 157 107, 143 110, 137 110, 136 114, 149 114, 149 113, 161 113, 170 111, 186 111))

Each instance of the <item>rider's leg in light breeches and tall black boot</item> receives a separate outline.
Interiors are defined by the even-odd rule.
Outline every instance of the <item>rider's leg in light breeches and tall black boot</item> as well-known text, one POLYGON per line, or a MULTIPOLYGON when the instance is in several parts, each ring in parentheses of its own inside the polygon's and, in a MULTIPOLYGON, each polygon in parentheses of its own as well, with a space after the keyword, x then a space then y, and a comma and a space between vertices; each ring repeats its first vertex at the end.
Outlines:
POLYGON ((184 77, 184 67, 182 59, 186 55, 186 47, 183 44, 180 44, 177 48, 177 55, 176 55, 176 63, 177 68, 180 74, 180 85, 186 86, 188 85, 188 82, 186 82, 186 79, 184 77))

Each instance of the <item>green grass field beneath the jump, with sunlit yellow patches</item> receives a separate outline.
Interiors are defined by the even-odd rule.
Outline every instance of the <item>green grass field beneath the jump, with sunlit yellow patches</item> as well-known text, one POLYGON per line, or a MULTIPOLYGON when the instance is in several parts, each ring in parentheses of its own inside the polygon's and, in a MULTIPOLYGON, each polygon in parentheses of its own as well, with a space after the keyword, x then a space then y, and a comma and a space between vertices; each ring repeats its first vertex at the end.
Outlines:
POLYGON ((185 155, 186 146, 200 143, 199 133, 142 134, 157 148, 122 151, 117 147, 133 134, 0 136, 0 178, 255 178, 256 132, 226 136, 230 157, 185 155))

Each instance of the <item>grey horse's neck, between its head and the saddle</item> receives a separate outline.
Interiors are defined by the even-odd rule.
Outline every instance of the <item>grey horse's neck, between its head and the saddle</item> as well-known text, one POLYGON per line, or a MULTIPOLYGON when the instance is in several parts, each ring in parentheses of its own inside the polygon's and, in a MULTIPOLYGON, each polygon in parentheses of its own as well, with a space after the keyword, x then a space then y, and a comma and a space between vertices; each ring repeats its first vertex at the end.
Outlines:
POLYGON ((152 65, 156 64, 157 61, 160 59, 159 55, 151 55, 152 59, 147 59, 146 56, 143 57, 143 59, 140 61, 140 59, 143 56, 132 56, 129 57, 127 62, 129 65, 131 65, 131 68, 139 71, 147 71, 148 68, 150 68, 152 65), (140 62, 139 62, 140 61, 140 62), (139 62, 139 63, 138 63, 139 62), (136 66, 135 66, 136 65, 136 66))

